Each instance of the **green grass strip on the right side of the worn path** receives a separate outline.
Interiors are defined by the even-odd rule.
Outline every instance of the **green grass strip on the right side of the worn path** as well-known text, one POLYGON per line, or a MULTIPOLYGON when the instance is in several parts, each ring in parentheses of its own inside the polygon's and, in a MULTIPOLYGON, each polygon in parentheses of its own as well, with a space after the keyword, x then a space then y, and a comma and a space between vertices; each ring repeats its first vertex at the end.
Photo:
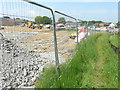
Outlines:
MULTIPOLYGON (((106 42, 109 38, 106 36, 106 42)), ((114 45, 118 46, 118 35, 112 36, 112 39, 114 40, 114 45)), ((109 88, 116 88, 118 87, 118 55, 109 47, 109 44, 106 43, 103 47, 103 54, 105 58, 104 63, 104 77, 105 77, 105 87, 109 88)))

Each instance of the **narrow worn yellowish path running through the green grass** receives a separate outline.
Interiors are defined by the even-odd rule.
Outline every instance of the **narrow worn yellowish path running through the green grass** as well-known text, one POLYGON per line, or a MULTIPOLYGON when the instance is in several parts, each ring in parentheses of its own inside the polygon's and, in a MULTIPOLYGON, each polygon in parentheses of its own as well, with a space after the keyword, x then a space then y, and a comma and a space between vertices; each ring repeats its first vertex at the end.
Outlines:
POLYGON ((105 62, 105 57, 103 57, 104 52, 103 52, 103 47, 104 44, 102 41, 105 40, 102 36, 100 36, 97 41, 96 41, 96 47, 98 51, 98 59, 95 63, 95 68, 93 70, 93 87, 95 88, 102 88, 105 85, 105 78, 103 76, 104 72, 104 62, 105 62))

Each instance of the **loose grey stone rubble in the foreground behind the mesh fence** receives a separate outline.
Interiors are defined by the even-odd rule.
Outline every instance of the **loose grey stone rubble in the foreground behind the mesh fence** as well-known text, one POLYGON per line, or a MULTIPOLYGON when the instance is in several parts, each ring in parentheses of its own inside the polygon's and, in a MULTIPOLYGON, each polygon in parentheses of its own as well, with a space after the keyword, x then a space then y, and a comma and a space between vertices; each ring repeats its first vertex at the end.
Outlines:
MULTIPOLYGON (((60 63, 64 61, 60 57, 60 63)), ((34 87, 39 73, 50 64, 55 64, 54 52, 28 51, 0 36, 0 89, 34 87)))

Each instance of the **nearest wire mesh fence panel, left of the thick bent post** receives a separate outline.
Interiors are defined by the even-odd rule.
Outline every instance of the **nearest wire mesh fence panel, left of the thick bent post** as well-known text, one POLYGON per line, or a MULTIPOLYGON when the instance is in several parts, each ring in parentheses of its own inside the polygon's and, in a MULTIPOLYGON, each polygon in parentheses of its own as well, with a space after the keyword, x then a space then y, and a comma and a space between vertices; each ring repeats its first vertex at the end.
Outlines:
POLYGON ((55 65, 51 11, 15 0, 0 1, 0 8, 0 88, 34 87, 44 67, 55 65))

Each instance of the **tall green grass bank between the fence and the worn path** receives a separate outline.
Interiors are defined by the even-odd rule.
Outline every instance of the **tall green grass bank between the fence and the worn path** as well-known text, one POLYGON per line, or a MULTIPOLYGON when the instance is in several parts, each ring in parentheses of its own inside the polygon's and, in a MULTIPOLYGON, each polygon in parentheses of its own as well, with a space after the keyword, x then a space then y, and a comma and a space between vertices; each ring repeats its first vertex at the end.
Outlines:
POLYGON ((91 73, 92 70, 90 70, 90 68, 92 66, 89 63, 93 62, 97 57, 96 48, 94 48, 96 38, 97 36, 93 36, 89 38, 88 40, 79 44, 79 51, 76 53, 76 55, 74 56, 73 60, 68 65, 68 67, 66 68, 67 65, 62 65, 60 67, 60 79, 59 80, 55 79, 55 68, 54 69, 52 68, 52 70, 50 69, 50 71, 46 71, 44 73, 43 79, 39 79, 38 82, 36 82, 36 87, 37 88, 85 87, 86 84, 89 82, 87 81, 88 79, 86 80, 84 75, 91 73), (49 81, 50 83, 48 84, 47 81, 49 81), (83 84, 82 81, 86 82, 86 84, 83 84))

